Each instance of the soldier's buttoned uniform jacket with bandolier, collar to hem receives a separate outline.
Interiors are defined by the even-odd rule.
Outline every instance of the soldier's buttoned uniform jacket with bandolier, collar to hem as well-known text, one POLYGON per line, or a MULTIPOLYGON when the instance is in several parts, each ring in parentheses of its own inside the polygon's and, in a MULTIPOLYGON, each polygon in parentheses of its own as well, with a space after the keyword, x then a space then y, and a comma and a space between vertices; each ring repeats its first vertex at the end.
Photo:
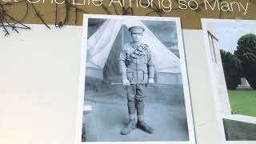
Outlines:
POLYGON ((154 78, 154 62, 149 46, 126 43, 119 56, 119 69, 122 79, 130 82, 147 82, 148 78, 154 78))

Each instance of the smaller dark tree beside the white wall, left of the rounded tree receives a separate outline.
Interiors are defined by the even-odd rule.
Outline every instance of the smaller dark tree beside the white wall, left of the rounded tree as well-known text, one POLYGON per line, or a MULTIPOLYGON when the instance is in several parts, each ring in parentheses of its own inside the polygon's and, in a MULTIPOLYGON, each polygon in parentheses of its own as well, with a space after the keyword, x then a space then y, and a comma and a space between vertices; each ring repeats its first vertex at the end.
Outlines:
POLYGON ((242 62, 230 52, 220 50, 222 56, 222 66, 228 90, 235 90, 242 78, 242 62))

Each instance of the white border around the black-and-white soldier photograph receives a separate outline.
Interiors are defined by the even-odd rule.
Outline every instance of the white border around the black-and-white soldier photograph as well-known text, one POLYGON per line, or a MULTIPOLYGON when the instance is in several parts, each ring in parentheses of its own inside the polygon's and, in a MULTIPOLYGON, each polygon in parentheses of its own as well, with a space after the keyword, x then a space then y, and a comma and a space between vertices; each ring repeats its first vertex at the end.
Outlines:
MULTIPOLYGON (((81 74, 79 81, 79 98, 78 98, 78 120, 77 120, 77 130, 76 130, 76 143, 82 144, 118 144, 118 143, 133 143, 133 142, 82 142, 82 119, 84 109, 84 91, 85 91, 85 79, 86 79, 86 45, 87 45, 87 30, 88 30, 88 19, 89 18, 106 18, 106 19, 132 19, 132 20, 152 20, 152 21, 171 21, 176 23, 177 36, 178 36, 178 50, 181 59, 181 70, 182 70, 182 86, 184 92, 185 106, 186 106, 186 121, 188 125, 189 141, 179 141, 179 142, 136 142, 136 143, 148 143, 148 144, 195 144, 195 134, 194 134, 194 119, 192 114, 192 107, 190 101, 190 87, 189 79, 187 77, 186 69, 186 56, 184 50, 184 43, 182 37, 182 26, 180 18, 169 18, 169 17, 146 17, 146 16, 124 16, 124 15, 103 15, 103 14, 84 14, 83 15, 83 25, 82 25, 82 59, 81 59, 81 74), (86 39, 86 41, 85 41, 86 39)), ((88 107, 88 106, 87 106, 88 107)), ((89 106, 90 107, 90 106, 89 106)))

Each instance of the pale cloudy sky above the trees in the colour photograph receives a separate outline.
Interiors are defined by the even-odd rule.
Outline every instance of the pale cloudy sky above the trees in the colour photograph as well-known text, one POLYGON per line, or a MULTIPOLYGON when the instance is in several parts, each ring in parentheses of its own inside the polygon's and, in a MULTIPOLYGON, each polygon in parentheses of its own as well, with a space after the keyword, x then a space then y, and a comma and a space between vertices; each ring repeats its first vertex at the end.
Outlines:
POLYGON ((237 50, 238 39, 245 34, 256 34, 256 22, 219 22, 215 24, 215 30, 218 33, 219 43, 223 50, 234 53, 237 50))

